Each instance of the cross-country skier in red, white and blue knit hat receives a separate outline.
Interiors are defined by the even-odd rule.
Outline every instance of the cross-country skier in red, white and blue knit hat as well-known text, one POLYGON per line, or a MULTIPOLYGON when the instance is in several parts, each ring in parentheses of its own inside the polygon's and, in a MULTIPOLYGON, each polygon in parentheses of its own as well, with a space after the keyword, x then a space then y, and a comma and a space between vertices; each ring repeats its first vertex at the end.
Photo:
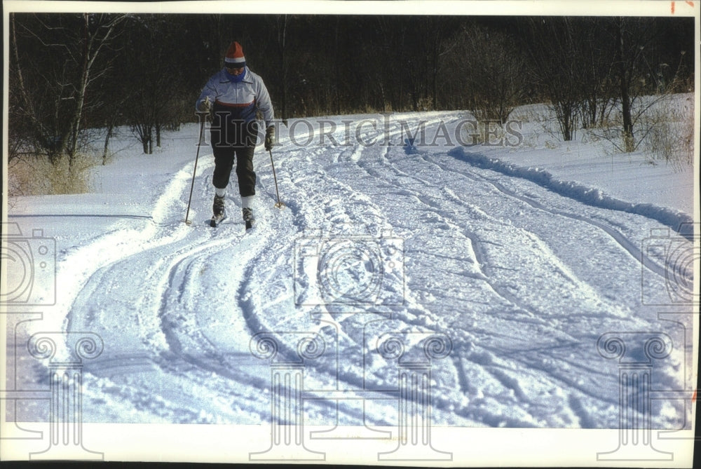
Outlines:
POLYGON ((246 67, 243 48, 234 41, 224 57, 224 68, 213 75, 196 102, 199 111, 212 114, 212 151, 215 155, 215 200, 212 205, 212 226, 224 218, 224 196, 234 163, 238 177, 243 219, 246 229, 254 223, 253 199, 256 193, 256 173, 253 151, 258 140, 257 110, 266 125, 265 149, 275 141, 273 105, 263 79, 246 67))

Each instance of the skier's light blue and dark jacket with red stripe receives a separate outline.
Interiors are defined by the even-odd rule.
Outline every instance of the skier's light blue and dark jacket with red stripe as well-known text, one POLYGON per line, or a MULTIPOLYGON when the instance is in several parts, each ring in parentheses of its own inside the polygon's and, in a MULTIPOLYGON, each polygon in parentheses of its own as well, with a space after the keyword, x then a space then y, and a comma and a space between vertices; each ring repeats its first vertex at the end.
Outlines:
POLYGON ((195 107, 207 97, 213 103, 212 144, 236 144, 248 136, 257 139, 256 112, 260 110, 266 127, 273 123, 273 104, 263 79, 245 68, 243 79, 222 69, 207 81, 195 107))

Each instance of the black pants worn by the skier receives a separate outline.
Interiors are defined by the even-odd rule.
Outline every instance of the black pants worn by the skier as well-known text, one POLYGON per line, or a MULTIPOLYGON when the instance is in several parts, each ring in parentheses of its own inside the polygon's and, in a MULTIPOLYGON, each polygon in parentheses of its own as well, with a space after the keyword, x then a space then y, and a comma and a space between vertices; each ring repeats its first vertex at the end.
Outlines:
POLYGON ((212 147, 215 154, 215 174, 212 184, 217 189, 224 189, 229 184, 231 170, 236 163, 238 193, 241 197, 256 194, 256 173, 253 170, 253 146, 212 147))

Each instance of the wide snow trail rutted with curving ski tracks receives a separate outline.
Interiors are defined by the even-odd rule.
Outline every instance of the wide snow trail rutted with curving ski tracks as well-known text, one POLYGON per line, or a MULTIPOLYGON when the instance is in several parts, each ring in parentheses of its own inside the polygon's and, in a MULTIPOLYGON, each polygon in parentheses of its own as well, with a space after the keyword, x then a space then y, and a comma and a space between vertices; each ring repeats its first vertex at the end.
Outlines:
MULTIPOLYGON (((104 353, 85 366, 86 421, 268 421, 269 362, 250 350, 259 332, 324 338, 329 353, 308 361, 308 389, 389 393, 396 363, 369 353, 370 345, 388 332, 439 332, 452 350, 432 367, 435 423, 618 426, 618 370, 598 355, 597 339, 660 328, 635 307, 639 246, 660 222, 587 205, 489 168, 479 155, 482 163, 470 164, 465 151, 283 142, 275 155, 287 208, 273 208, 268 155, 259 149, 251 233, 244 233, 235 189, 229 219, 206 226, 211 163, 198 168, 193 224, 182 223, 188 163, 163 188, 143 229, 117 229, 69 255, 66 264, 86 265, 96 252, 119 247, 83 271, 60 301, 65 329, 104 340, 104 353), (355 314, 342 305, 295 305, 300 240, 376 238, 387 229, 404 243, 403 304, 355 306, 355 314)), ((663 266, 649 269, 664 282, 663 266)), ((278 354, 296 352, 283 346, 278 354)), ((655 369, 656 377, 682 386, 673 368, 655 369)), ((368 402, 365 416, 352 402, 314 401, 310 409, 311 423, 396 423, 382 401, 368 402)), ((661 426, 679 419, 682 411, 653 415, 661 426)))

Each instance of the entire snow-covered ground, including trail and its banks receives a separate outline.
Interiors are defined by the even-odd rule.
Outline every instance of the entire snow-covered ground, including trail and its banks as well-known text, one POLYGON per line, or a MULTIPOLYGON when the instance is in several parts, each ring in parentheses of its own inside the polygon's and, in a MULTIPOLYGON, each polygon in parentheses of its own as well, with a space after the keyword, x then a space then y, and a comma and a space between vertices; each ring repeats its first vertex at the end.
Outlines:
MULTIPOLYGON (((626 360, 653 365, 655 390, 693 388, 698 231, 678 232, 693 222, 691 172, 591 143, 546 148, 529 125, 518 146, 465 146, 466 118, 290 121, 273 150, 287 207, 273 207, 260 147, 252 233, 235 182, 229 220, 207 225, 207 146, 184 224, 197 124, 152 156, 124 132, 95 193, 11 203, 24 238, 55 240, 56 277, 55 304, 8 315, 9 388, 48 386, 23 348, 40 331, 102 339, 84 362, 86 422, 268 423, 283 365, 304 367, 305 422, 329 429, 396 426, 411 364, 430 369, 419 392, 436 425, 618 428, 626 360), (667 353, 649 359, 639 333, 667 353)), ((46 419, 48 404, 15 412, 46 419)), ((671 398, 650 415, 667 429, 691 416, 671 398)))

